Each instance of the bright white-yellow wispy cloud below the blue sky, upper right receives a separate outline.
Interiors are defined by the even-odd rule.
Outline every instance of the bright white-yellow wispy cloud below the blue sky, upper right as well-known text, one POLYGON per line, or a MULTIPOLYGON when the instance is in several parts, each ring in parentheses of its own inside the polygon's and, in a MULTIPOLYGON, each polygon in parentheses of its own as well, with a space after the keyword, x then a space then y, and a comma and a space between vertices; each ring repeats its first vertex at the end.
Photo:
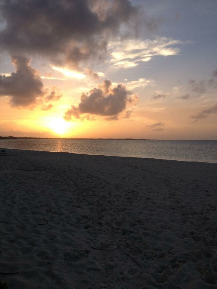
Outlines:
POLYGON ((139 65, 141 62, 150 61, 156 55, 177 55, 180 48, 173 47, 184 42, 166 37, 155 40, 124 40, 120 42, 109 42, 112 67, 129 68, 139 65))

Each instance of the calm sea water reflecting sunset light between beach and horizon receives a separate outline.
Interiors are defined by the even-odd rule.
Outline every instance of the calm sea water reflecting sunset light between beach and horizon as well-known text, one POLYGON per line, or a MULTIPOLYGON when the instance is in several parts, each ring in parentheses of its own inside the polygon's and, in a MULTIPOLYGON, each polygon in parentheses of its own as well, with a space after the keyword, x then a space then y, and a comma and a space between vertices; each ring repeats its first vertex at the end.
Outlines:
POLYGON ((217 141, 0 139, 0 148, 217 163, 217 141))

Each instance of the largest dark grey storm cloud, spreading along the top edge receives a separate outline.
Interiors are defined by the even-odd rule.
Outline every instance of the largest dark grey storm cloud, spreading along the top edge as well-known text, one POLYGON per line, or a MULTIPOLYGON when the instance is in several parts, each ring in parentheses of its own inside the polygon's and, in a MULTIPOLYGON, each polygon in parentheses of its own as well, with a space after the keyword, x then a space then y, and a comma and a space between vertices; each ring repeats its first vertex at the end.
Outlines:
POLYGON ((38 54, 74 67, 104 57, 107 40, 135 23, 129 0, 0 0, 0 48, 38 54))

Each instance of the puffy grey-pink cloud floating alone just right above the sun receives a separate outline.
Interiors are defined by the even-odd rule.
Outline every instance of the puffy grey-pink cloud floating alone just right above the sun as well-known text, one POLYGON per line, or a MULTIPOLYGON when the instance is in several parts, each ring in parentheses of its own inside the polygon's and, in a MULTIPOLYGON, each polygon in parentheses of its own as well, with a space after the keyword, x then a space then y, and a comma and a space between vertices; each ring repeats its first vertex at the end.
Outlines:
POLYGON ((66 111, 64 119, 72 117, 80 119, 85 113, 107 117, 107 120, 117 119, 118 114, 123 112, 127 104, 138 101, 137 95, 132 94, 122 84, 112 87, 110 80, 104 80, 98 88, 91 89, 89 93, 82 93, 78 106, 72 105, 66 111))

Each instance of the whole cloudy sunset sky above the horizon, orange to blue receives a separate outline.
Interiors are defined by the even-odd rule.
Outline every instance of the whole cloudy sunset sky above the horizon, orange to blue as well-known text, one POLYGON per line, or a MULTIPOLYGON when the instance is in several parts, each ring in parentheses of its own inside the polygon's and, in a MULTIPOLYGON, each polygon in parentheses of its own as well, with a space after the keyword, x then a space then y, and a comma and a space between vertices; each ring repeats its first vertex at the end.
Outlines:
POLYGON ((216 0, 0 0, 0 135, 217 140, 216 0))

